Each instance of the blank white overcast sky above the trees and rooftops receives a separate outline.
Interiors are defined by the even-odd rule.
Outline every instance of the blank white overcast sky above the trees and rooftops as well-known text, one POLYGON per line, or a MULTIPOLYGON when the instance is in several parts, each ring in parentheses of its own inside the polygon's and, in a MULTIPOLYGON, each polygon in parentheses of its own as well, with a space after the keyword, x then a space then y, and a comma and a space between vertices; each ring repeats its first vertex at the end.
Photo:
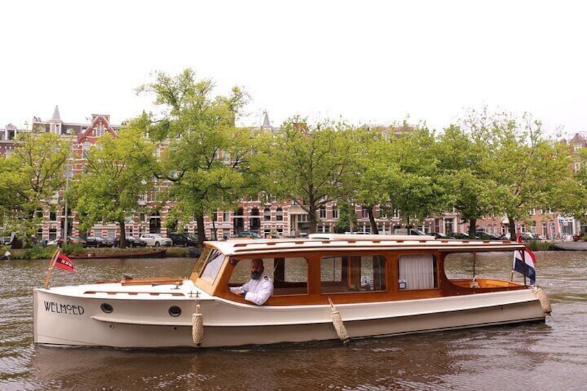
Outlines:
POLYGON ((587 131, 581 1, 3 1, 0 128, 158 112, 136 88, 183 69, 244 87, 242 125, 309 120, 442 129, 468 109, 587 131))

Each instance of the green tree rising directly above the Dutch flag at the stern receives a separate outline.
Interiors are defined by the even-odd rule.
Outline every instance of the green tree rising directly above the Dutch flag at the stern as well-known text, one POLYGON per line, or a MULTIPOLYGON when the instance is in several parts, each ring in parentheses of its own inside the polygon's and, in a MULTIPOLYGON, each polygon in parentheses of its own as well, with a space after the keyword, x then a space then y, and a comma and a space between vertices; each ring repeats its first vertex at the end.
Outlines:
POLYGON ((565 205, 560 188, 572 176, 570 156, 545 134, 539 120, 484 108, 470 111, 464 123, 475 143, 485 145, 482 167, 492 185, 491 206, 507 217, 512 237, 516 223, 534 208, 565 205))

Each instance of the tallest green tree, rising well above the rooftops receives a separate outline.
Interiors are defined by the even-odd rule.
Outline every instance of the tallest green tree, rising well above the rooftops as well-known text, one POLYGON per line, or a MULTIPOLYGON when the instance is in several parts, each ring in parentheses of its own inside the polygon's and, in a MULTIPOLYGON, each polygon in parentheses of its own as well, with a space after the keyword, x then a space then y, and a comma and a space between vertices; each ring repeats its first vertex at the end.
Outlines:
POLYGON ((261 160, 262 135, 237 128, 235 122, 248 95, 233 87, 229 96, 213 96, 213 80, 197 80, 186 69, 176 76, 163 72, 154 82, 138 88, 150 93, 163 109, 146 130, 156 140, 166 140, 156 176, 170 181, 165 197, 175 201, 179 221, 195 217, 198 239, 204 242, 204 217, 218 208, 234 206, 245 194, 258 191, 256 170, 261 160))

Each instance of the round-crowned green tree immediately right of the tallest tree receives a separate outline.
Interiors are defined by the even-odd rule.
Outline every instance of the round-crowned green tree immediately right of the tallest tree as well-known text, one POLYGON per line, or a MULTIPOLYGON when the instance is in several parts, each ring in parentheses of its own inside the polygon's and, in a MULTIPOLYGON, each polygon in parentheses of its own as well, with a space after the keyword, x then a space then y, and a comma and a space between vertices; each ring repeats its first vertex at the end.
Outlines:
POLYGON ((343 183, 352 174, 352 128, 343 122, 307 125, 291 118, 274 135, 271 173, 264 183, 271 194, 293 200, 305 210, 310 233, 316 232, 316 211, 345 197, 343 183))

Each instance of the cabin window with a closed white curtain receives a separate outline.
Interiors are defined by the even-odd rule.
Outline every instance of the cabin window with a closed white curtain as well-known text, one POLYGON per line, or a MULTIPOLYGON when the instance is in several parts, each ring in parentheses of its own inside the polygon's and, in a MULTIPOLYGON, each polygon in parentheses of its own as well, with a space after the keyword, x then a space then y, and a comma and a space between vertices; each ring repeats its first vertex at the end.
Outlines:
POLYGON ((397 262, 400 291, 438 287, 433 255, 401 255, 397 262))

